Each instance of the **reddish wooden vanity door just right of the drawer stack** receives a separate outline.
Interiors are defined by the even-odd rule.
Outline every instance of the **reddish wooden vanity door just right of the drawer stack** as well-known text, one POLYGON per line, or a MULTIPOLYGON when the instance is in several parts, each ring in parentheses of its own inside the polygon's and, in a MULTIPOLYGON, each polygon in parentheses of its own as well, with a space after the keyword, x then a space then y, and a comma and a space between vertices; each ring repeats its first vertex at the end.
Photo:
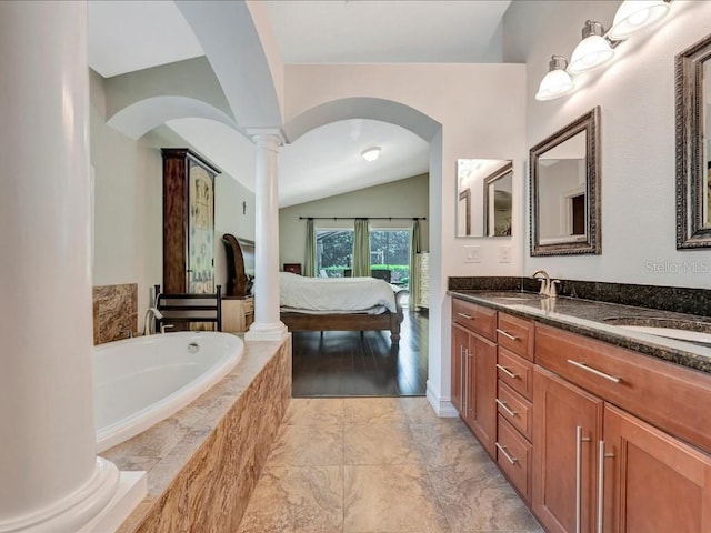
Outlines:
POLYGON ((550 533, 594 532, 602 415, 602 400, 535 366, 532 501, 550 533))

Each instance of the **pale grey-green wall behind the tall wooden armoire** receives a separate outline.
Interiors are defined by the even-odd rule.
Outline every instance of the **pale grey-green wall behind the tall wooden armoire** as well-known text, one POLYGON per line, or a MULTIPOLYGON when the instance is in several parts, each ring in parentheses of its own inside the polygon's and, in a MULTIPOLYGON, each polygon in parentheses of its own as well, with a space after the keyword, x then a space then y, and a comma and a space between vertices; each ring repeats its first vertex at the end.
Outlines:
MULTIPOLYGON (((106 124, 104 80, 90 71, 91 164, 94 169, 93 284, 138 283, 139 331, 150 290, 162 284, 162 157, 191 148, 161 128, 134 141, 106 124)), ((228 174, 216 179, 216 282, 224 285, 222 233, 254 239, 254 194, 228 174), (242 201, 247 214, 242 214, 242 201)))

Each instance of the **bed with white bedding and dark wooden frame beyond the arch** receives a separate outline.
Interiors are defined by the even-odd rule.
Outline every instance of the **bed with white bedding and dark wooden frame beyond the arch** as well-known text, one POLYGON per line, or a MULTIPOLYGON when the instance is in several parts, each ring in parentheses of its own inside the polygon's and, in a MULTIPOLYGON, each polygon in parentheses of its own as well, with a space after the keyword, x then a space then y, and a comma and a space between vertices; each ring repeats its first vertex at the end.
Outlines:
POLYGON ((281 321, 289 331, 390 330, 391 342, 400 342, 407 290, 373 278, 279 275, 281 321))

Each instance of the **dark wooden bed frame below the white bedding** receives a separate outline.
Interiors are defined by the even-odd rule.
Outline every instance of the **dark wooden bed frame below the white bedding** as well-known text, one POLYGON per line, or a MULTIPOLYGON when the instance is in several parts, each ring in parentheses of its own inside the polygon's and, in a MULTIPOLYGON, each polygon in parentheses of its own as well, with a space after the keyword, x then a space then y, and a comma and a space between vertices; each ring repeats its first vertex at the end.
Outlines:
POLYGON ((385 311, 381 314, 362 313, 334 313, 334 314, 308 314, 282 312, 281 321, 289 331, 382 331, 390 330, 390 340, 393 344, 400 342, 400 324, 402 314, 402 298, 408 291, 399 291, 395 294, 397 312, 385 311))

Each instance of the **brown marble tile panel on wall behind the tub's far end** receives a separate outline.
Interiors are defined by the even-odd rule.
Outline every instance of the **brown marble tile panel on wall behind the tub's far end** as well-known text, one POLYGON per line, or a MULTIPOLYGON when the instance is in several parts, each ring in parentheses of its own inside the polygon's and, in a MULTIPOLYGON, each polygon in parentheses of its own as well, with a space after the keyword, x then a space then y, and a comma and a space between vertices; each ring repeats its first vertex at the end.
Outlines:
POLYGON ((126 339, 123 330, 138 333, 138 284, 100 285, 92 290, 93 343, 126 339))

